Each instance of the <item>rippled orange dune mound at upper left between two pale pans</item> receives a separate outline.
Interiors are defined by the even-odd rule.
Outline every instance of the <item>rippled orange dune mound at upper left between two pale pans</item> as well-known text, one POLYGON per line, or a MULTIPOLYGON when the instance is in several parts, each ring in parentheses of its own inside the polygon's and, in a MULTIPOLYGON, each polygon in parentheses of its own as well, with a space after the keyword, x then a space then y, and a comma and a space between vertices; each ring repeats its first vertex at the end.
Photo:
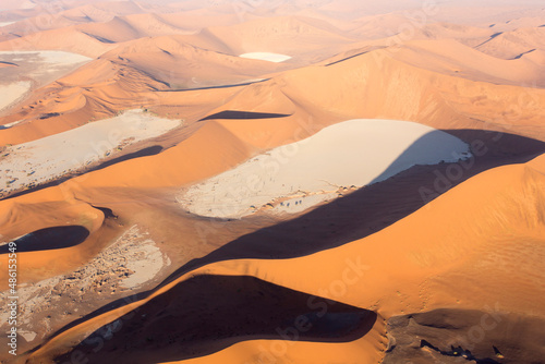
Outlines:
POLYGON ((138 93, 166 88, 141 71, 108 60, 96 60, 76 72, 34 92, 27 105, 14 109, 15 126, 0 141, 20 144, 64 132, 123 109, 149 102, 138 93))

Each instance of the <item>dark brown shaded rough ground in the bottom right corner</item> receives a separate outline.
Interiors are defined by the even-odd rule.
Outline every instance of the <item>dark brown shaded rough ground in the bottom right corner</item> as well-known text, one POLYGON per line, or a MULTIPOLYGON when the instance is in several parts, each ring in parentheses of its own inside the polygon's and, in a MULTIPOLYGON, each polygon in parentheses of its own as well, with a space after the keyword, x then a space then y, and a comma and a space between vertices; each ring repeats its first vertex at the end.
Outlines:
POLYGON ((455 364, 544 363, 545 345, 542 317, 500 312, 439 308, 424 313, 395 316, 388 320, 390 345, 383 361, 455 364), (420 341, 415 350, 414 342, 420 341))

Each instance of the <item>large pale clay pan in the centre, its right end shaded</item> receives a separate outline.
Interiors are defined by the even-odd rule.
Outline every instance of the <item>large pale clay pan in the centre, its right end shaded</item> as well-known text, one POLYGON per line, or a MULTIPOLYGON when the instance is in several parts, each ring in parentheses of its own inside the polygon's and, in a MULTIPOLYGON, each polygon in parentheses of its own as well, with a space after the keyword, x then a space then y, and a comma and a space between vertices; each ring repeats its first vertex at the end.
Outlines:
POLYGON ((259 155, 179 196, 191 213, 240 218, 258 210, 300 213, 414 165, 457 161, 469 146, 413 122, 351 120, 259 155))

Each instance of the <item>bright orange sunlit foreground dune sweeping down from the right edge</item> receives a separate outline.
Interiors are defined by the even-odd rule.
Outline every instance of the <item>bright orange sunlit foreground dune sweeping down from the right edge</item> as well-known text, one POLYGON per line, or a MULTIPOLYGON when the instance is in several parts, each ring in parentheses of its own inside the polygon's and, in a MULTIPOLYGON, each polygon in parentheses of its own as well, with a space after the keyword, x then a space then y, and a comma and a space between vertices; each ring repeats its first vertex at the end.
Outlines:
MULTIPOLYGON (((543 317, 541 302, 525 298, 545 294, 540 269, 545 254, 541 248, 545 221, 540 214, 545 201, 544 172, 545 155, 525 165, 483 172, 393 226, 329 251, 281 260, 226 260, 197 268, 145 300, 68 329, 33 353, 31 363, 51 360, 100 326, 198 275, 253 276, 376 310, 385 318, 437 307, 532 312, 543 317), (534 278, 529 279, 530 272, 534 278)), ((249 341, 203 360, 239 363, 242 348, 250 351, 242 355, 261 352, 258 342, 249 341)), ((314 350, 316 345, 298 348, 314 350)), ((373 355, 382 354, 375 351, 373 355)))

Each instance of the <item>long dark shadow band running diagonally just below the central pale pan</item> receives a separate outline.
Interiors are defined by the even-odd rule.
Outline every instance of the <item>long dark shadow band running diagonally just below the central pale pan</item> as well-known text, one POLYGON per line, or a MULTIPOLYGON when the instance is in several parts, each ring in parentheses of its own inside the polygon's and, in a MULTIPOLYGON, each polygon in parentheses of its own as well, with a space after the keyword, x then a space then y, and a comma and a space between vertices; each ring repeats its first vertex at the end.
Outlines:
MULTIPOLYGON (((484 155, 470 160, 471 163, 468 163, 470 168, 464 169, 459 179, 445 184, 439 178, 447 175, 450 166, 456 163, 414 166, 298 218, 243 235, 202 258, 190 260, 166 278, 158 288, 172 282, 185 272, 214 262, 240 258, 293 258, 344 245, 389 227, 471 177, 495 167, 526 162, 545 153, 545 143, 518 135, 475 130, 446 132, 470 145, 480 146, 481 151, 486 150, 484 155), (424 196, 428 199, 423 198, 422 189, 436 194, 424 196)), ((228 229, 231 222, 195 218, 195 226, 202 230, 203 244, 208 239, 213 241, 215 234, 221 234, 222 229, 228 229)), ((155 289, 111 302, 61 328, 53 333, 53 337, 108 311, 142 300, 154 291, 155 289)), ((37 349, 39 347, 33 351, 37 349)))

